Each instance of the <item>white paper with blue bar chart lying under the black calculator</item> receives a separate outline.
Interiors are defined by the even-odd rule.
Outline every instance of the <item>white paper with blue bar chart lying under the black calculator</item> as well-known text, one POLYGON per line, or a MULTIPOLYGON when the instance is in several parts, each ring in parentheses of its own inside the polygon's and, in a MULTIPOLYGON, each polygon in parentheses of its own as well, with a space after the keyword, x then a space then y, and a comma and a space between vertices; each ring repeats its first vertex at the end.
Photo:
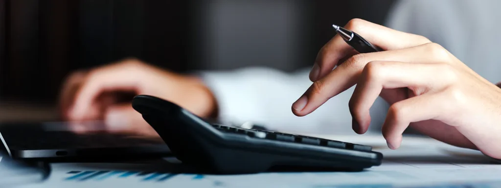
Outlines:
POLYGON ((501 187, 501 164, 478 151, 404 140, 400 149, 379 149, 383 164, 362 172, 210 175, 162 171, 156 164, 59 163, 46 182, 23 187, 501 187))

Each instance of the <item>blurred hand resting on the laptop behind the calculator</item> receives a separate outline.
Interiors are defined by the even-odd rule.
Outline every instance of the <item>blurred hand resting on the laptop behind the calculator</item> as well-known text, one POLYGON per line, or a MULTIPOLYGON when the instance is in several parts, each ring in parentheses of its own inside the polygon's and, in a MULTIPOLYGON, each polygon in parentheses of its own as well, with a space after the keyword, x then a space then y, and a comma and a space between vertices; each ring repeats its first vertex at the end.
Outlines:
MULTIPOLYGON (((140 94, 169 100, 200 117, 216 115, 212 93, 200 80, 135 59, 72 74, 62 88, 60 108, 65 120, 104 120, 106 131, 158 136, 131 106, 132 97, 140 94)), ((75 127, 79 132, 92 129, 75 127)))

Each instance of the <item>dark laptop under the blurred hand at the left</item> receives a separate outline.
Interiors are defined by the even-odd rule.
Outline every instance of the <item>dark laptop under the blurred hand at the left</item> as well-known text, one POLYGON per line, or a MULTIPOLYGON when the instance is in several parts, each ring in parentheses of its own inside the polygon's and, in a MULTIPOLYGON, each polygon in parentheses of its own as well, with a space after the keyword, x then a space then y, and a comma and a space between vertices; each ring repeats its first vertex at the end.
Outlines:
MULTIPOLYGON (((99 127, 103 122, 85 123, 99 127)), ((1 145, 14 159, 116 160, 171 154, 160 137, 98 130, 78 134, 71 127, 71 122, 0 123, 1 145)))

